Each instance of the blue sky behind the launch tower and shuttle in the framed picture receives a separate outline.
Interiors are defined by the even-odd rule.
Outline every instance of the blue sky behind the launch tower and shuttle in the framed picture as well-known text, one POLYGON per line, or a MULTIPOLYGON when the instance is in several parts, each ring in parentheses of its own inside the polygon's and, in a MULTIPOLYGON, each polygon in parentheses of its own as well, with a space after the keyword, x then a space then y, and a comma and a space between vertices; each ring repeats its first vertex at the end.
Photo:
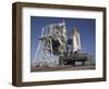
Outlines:
POLYGON ((96 41, 96 26, 95 20, 92 18, 65 18, 65 17, 31 17, 31 59, 34 59, 37 46, 39 42, 39 37, 41 34, 41 28, 46 25, 53 23, 62 23, 64 20, 68 33, 72 31, 73 27, 78 28, 81 36, 82 51, 88 54, 95 55, 95 41, 96 41))

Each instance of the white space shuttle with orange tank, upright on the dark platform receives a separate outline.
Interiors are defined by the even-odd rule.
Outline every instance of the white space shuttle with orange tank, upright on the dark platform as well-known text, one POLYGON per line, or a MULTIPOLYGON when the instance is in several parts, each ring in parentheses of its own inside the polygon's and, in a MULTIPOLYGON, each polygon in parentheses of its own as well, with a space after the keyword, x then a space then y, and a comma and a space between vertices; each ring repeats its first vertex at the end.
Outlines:
POLYGON ((78 53, 81 52, 81 38, 80 38, 80 33, 77 31, 77 28, 73 28, 73 53, 78 53))

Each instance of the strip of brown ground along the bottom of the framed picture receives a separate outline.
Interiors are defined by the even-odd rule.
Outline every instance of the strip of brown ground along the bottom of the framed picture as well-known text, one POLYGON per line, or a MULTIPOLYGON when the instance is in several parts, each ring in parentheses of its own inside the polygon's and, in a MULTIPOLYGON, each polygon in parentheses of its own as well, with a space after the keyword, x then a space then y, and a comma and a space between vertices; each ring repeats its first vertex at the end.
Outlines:
POLYGON ((36 66, 32 68, 31 72, 51 72, 51 71, 83 71, 83 69, 95 69, 95 65, 64 65, 64 66, 57 66, 57 67, 48 67, 48 66, 36 66))

